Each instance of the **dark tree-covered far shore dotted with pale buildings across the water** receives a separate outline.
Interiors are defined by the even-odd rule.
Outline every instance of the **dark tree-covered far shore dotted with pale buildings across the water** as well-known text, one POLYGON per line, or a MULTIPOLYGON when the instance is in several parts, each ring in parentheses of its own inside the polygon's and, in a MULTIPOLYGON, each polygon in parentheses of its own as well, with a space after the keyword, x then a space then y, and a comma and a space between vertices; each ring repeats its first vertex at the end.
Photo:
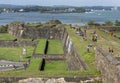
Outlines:
POLYGON ((85 8, 82 7, 54 7, 54 6, 19 6, 19 7, 0 7, 0 11, 9 11, 9 12, 76 12, 82 13, 85 12, 85 8), (70 10, 71 8, 71 10, 70 10), (23 11, 20 11, 20 10, 23 11), (67 10, 67 11, 66 11, 67 10))

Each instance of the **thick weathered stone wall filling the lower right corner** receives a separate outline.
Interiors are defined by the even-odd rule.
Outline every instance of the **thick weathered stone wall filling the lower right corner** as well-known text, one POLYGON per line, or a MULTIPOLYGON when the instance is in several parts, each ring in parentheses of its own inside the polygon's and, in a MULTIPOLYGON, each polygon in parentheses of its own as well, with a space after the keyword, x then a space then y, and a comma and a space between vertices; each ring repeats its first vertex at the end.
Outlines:
POLYGON ((96 66, 102 73, 103 83, 120 83, 120 62, 98 47, 96 48, 96 66))

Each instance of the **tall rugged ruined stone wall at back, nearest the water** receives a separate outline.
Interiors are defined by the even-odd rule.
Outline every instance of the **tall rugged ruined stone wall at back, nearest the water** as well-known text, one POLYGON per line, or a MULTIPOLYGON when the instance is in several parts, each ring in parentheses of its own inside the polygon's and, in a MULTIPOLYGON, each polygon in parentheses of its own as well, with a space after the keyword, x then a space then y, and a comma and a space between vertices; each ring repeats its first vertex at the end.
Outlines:
POLYGON ((51 26, 44 26, 39 28, 11 23, 9 24, 8 32, 16 38, 62 39, 64 27, 51 28, 51 26))

